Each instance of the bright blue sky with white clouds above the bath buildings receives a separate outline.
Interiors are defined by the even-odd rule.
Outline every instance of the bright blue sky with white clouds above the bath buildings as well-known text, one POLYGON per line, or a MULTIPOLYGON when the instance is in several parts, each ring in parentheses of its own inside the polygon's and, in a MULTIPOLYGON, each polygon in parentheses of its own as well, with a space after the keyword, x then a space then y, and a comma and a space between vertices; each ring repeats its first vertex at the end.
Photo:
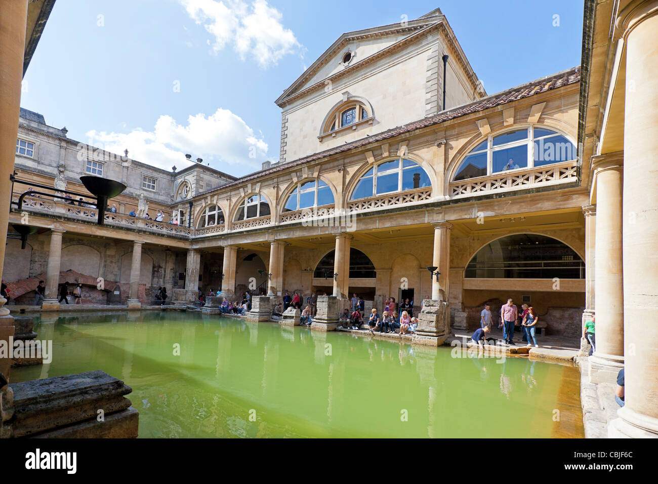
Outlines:
POLYGON ((241 176, 278 159, 274 100, 343 32, 437 7, 488 94, 580 64, 578 0, 57 0, 21 105, 139 161, 241 176))

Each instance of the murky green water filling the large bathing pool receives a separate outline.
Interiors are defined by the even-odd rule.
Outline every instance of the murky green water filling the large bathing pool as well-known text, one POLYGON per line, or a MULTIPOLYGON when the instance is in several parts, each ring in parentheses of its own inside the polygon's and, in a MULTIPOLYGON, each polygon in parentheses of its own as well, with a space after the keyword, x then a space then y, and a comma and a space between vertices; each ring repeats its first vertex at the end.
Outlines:
POLYGON ((132 387, 139 437, 582 437, 563 365, 174 311, 36 317, 35 331, 53 361, 12 381, 106 371, 132 387))

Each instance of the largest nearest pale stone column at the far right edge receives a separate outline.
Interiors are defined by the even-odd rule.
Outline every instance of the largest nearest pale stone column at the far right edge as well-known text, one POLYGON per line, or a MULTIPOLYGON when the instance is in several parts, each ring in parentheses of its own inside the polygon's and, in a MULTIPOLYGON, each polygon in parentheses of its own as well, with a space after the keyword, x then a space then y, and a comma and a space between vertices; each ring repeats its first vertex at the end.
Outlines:
MULTIPOLYGON (((631 3, 624 113, 624 407, 610 437, 658 437, 658 1, 631 3), (633 83, 630 86, 630 83, 633 83)), ((619 26, 619 21, 617 22, 619 26)), ((601 203, 601 200, 599 203, 601 203)), ((600 214, 600 211, 599 211, 600 214)), ((597 223, 601 217, 597 217, 597 223)), ((598 240, 597 240, 598 242, 598 240)), ((598 254, 597 254, 598 257, 598 254)), ((600 274, 597 273, 597 282, 600 274)), ((597 303, 601 294, 597 291, 597 303)), ((601 313, 596 312, 597 342, 601 313)), ((598 349, 598 344, 597 344, 598 349)))

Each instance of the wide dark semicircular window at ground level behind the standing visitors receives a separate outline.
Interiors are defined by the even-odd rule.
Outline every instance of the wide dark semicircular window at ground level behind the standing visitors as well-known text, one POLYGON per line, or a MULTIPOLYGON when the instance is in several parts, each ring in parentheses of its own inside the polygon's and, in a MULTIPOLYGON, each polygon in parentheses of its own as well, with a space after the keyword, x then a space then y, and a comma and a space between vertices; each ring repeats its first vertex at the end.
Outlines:
POLYGON ((466 267, 467 278, 584 279, 585 264, 559 240, 537 234, 515 234, 490 242, 466 267))

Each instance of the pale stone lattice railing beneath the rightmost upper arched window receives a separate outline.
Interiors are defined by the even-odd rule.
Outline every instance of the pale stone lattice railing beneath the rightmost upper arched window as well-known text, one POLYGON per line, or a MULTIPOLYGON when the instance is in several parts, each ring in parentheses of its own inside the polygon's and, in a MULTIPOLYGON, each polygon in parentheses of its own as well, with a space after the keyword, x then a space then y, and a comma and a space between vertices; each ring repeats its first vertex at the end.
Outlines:
POLYGON ((478 176, 450 183, 452 198, 483 195, 486 192, 522 190, 535 185, 553 185, 573 182, 578 179, 577 160, 563 161, 545 167, 534 167, 511 173, 503 172, 492 176, 478 176))

